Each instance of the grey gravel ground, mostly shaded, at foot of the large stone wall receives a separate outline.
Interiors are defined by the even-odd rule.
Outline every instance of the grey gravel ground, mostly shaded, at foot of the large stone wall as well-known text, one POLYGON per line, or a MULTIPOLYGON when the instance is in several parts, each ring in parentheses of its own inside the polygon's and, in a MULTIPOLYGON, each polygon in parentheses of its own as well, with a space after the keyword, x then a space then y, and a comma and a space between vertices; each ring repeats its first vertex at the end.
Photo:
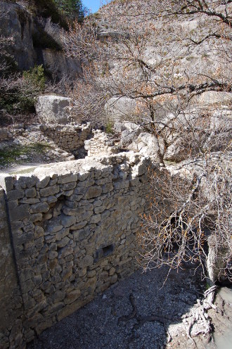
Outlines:
MULTIPOLYGON (((200 298, 205 283, 191 269, 173 271, 165 282, 166 276, 165 268, 134 273, 44 331, 27 349, 224 349, 207 344, 209 338, 198 336, 193 343, 186 336, 183 317, 200 298), (169 336, 172 340, 167 343, 169 336)), ((231 303, 227 303, 227 312, 231 312, 231 303)), ((221 317, 217 318, 219 337, 228 331, 231 315, 217 315, 221 317)))

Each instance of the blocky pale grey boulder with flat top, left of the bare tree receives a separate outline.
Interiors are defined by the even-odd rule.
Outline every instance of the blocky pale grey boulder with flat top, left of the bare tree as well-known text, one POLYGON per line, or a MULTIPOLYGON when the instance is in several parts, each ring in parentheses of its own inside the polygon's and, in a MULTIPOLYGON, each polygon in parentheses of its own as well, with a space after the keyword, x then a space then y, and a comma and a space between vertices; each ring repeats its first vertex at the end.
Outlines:
POLYGON ((67 124, 71 119, 71 99, 63 96, 39 96, 36 112, 39 121, 50 124, 67 124))

